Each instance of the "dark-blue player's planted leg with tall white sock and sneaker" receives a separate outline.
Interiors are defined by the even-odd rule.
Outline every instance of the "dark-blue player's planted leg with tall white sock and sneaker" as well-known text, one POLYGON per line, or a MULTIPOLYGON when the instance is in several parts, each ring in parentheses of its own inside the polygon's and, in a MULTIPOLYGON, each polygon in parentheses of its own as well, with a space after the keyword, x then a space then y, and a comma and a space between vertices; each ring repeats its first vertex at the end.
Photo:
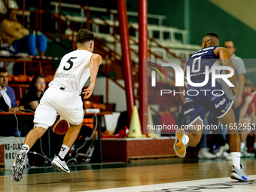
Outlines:
POLYGON ((230 177, 233 179, 237 179, 239 181, 249 181, 248 175, 243 172, 243 168, 240 164, 240 136, 236 126, 236 119, 235 115, 233 113, 233 109, 230 108, 229 111, 224 114, 223 117, 220 117, 221 123, 224 124, 224 126, 227 127, 227 131, 229 133, 229 145, 230 145, 230 151, 231 156, 233 160, 233 169, 231 172, 230 177))

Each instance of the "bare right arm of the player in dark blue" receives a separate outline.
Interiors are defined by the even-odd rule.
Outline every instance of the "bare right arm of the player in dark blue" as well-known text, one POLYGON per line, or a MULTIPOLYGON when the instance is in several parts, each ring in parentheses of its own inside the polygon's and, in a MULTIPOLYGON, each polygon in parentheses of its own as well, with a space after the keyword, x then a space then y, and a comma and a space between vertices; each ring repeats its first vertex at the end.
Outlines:
MULTIPOLYGON (((230 52, 224 47, 218 47, 215 49, 215 54, 221 59, 221 63, 223 66, 231 67, 234 71, 234 75, 228 79, 235 86, 235 87, 230 87, 230 89, 233 90, 233 95, 235 96, 236 95, 236 71, 230 57, 230 52)), ((229 74, 230 71, 225 70, 225 73, 229 74)))

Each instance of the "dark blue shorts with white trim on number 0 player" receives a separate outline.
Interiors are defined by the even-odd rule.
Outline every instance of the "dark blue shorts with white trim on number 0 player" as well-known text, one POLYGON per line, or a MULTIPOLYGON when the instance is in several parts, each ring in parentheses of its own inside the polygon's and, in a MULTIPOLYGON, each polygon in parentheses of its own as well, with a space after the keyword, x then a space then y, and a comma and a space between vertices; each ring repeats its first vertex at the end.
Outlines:
POLYGON ((204 87, 188 86, 183 111, 185 123, 190 125, 198 119, 203 122, 208 111, 212 111, 218 118, 227 114, 233 101, 221 90, 221 84, 218 82, 216 82, 215 87, 212 87, 212 82, 204 87))

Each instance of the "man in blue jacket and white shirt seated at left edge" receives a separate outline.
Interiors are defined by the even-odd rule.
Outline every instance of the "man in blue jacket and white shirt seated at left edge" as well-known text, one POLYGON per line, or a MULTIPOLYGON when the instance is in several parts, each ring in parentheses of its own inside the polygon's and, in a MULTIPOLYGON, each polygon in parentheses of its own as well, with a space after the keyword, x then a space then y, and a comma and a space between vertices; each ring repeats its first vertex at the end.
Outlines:
POLYGON ((5 107, 6 111, 13 112, 22 112, 24 111, 24 107, 20 105, 17 107, 16 97, 14 90, 8 86, 8 72, 5 68, 0 68, 0 86, 1 86, 1 97, 5 100, 6 105, 8 108, 5 107))

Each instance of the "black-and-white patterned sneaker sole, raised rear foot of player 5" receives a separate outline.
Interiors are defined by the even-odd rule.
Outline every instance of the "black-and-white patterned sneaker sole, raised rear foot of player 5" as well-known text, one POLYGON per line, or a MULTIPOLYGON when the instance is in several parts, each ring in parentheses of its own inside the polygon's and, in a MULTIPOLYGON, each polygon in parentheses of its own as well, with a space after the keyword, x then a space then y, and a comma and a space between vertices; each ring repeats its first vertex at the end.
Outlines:
POLYGON ((14 165, 11 166, 11 177, 18 182, 23 178, 23 170, 26 162, 26 151, 20 150, 17 152, 14 160, 14 165))

